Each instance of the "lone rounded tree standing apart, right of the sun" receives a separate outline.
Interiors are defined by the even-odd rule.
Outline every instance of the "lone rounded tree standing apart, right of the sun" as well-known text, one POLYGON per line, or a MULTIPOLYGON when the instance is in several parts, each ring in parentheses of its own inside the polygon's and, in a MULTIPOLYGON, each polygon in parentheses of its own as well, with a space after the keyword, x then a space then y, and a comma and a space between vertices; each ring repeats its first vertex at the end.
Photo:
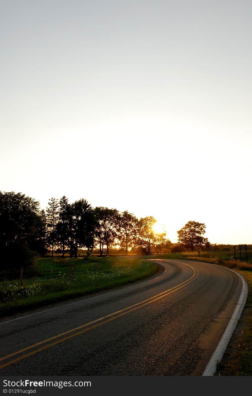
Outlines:
POLYGON ((177 231, 178 243, 189 247, 193 251, 194 246, 206 244, 207 238, 204 238, 206 225, 197 221, 189 221, 181 230, 177 231))

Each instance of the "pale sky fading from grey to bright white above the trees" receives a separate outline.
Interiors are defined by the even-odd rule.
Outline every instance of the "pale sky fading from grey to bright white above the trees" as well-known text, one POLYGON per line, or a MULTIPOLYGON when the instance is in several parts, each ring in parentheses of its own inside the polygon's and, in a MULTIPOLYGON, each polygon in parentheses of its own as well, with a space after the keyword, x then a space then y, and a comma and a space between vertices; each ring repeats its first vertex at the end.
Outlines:
POLYGON ((252 244, 252 2, 0 0, 0 190, 252 244))

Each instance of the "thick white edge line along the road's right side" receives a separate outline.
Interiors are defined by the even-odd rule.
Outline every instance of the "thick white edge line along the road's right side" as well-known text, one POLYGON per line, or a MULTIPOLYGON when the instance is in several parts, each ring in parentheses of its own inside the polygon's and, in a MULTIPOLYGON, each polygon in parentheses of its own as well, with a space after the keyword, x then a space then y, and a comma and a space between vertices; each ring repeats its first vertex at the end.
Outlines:
MULTIPOLYGON (((216 265, 216 264, 212 264, 216 265)), ((217 266, 218 267, 218 266, 217 266)), ((226 268, 226 267, 222 267, 226 268)), ((227 348, 227 345, 233 335, 233 332, 235 330, 235 327, 237 326, 238 320, 240 319, 240 316, 242 314, 244 305, 246 303, 247 295, 248 295, 248 283, 244 277, 239 274, 239 272, 236 272, 234 270, 231 270, 230 268, 226 268, 229 271, 234 272, 236 275, 238 275, 242 281, 242 291, 240 293, 240 298, 239 301, 235 307, 235 310, 233 312, 232 318, 229 321, 229 324, 227 325, 227 328, 225 329, 223 336, 221 337, 219 344, 217 345, 214 353, 212 354, 211 359, 208 362, 208 365, 206 366, 202 377, 210 377, 213 376, 215 371, 216 371, 216 365, 217 362, 220 362, 223 354, 227 348)))

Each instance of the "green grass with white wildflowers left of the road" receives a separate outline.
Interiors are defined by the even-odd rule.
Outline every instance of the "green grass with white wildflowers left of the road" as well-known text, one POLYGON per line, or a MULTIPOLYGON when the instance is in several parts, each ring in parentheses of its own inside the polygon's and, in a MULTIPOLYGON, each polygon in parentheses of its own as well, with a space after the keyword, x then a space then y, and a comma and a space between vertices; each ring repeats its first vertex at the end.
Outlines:
POLYGON ((151 276, 158 269, 146 260, 116 259, 39 259, 37 276, 26 272, 22 286, 19 279, 0 282, 0 315, 121 286, 151 276))

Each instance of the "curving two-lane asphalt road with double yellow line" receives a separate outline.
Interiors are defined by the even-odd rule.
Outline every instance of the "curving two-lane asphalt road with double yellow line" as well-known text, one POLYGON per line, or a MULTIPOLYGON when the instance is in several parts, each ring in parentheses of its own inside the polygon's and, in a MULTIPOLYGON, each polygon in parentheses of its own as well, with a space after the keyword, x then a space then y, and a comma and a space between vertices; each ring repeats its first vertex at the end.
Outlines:
POLYGON ((0 322, 0 375, 202 375, 239 300, 223 267, 154 260, 152 279, 0 322))

